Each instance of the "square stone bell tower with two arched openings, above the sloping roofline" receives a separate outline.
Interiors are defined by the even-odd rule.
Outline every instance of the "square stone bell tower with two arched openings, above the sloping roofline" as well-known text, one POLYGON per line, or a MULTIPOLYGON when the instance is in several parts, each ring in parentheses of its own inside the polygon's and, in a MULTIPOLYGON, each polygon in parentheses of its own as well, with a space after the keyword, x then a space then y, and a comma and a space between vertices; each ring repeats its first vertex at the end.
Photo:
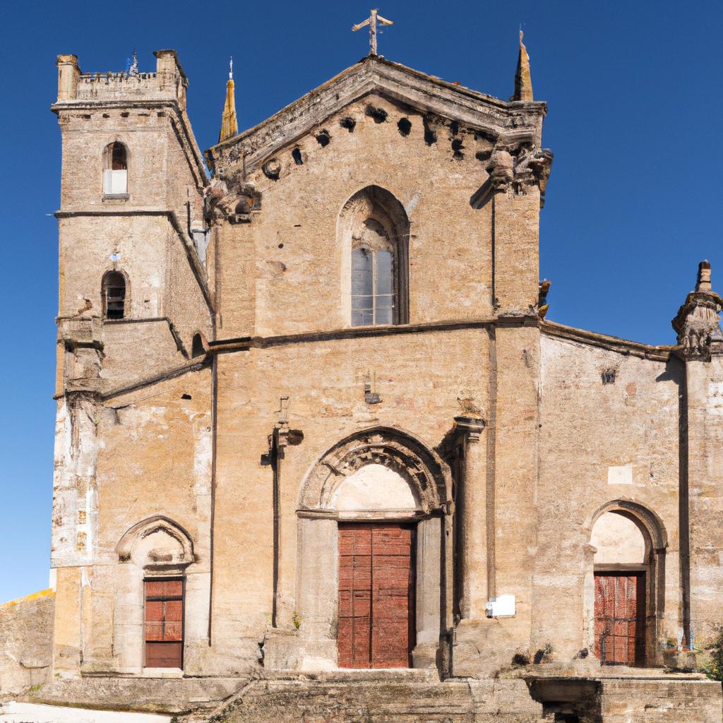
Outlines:
MULTIPOLYGON (((106 387, 181 364, 194 334, 211 336, 207 176, 188 80, 176 51, 155 57, 155 72, 139 72, 135 57, 117 73, 83 73, 74 55, 57 62, 60 335, 98 320, 106 387)), ((59 393, 69 374, 59 369, 59 393)))

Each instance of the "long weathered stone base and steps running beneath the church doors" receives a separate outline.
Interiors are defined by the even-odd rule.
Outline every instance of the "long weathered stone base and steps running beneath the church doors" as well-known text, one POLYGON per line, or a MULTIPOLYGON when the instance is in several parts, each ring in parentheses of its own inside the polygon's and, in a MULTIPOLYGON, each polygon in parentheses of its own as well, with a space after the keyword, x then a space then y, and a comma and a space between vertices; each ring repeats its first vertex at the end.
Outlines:
POLYGON ((651 669, 607 673, 551 670, 443 682, 434 671, 413 669, 176 680, 84 676, 53 678, 35 700, 188 715, 189 723, 721 723, 719 683, 651 669))

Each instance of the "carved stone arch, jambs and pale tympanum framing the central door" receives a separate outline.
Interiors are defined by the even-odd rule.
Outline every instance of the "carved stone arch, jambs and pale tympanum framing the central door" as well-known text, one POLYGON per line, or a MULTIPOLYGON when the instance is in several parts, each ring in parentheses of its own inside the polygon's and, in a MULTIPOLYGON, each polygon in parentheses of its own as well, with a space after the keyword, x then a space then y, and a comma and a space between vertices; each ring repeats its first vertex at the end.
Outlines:
POLYGON ((411 665, 438 664, 440 637, 450 627, 450 495, 446 463, 400 429, 367 429, 321 455, 304 479, 297 510, 301 668, 338 667, 340 527, 376 526, 382 536, 391 528, 414 529, 411 665))

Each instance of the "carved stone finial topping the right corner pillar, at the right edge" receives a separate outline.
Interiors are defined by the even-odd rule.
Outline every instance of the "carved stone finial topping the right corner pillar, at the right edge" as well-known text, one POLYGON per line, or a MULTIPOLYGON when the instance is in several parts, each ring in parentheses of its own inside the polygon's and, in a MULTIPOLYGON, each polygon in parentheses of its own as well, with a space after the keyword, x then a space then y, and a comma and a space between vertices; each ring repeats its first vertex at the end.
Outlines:
POLYGON ((723 333, 719 314, 723 298, 711 290, 711 265, 701 261, 698 265, 696 291, 685 299, 672 325, 677 332, 677 343, 685 359, 706 359, 711 354, 723 353, 723 333))

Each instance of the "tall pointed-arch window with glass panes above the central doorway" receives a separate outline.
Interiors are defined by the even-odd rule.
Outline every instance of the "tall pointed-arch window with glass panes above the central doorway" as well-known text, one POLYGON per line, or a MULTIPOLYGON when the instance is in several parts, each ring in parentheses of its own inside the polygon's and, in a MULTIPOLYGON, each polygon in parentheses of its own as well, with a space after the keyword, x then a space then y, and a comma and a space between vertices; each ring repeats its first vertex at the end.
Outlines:
POLYGON ((356 192, 339 214, 343 309, 351 326, 406 324, 409 220, 379 186, 356 192))

